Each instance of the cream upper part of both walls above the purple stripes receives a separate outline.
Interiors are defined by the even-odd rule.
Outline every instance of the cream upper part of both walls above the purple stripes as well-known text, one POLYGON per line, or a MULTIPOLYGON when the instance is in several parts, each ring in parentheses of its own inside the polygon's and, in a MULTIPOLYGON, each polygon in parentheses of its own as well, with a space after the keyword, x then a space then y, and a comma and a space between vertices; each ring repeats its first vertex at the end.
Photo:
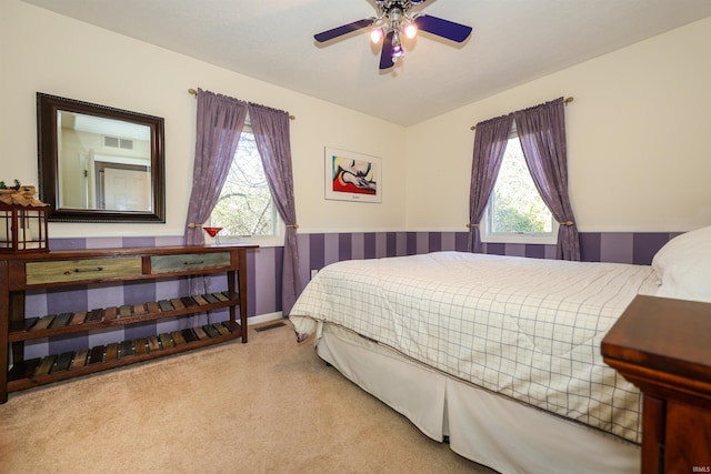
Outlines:
POLYGON ((711 224, 710 84, 711 19, 705 19, 404 129, 3 0, 0 180, 37 182, 38 91, 160 115, 167 134, 167 223, 52 223, 50 234, 181 234, 194 150, 196 101, 187 89, 201 87, 297 115, 291 140, 301 232, 464 231, 470 127, 572 95, 570 189, 580 230, 683 231, 711 224), (323 147, 382 158, 383 203, 326 201, 323 147))

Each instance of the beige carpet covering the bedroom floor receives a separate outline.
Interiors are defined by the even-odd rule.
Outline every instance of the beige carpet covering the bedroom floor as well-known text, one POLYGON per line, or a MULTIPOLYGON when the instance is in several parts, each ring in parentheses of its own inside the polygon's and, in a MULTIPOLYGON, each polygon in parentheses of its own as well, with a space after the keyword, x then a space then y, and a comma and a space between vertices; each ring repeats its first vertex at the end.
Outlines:
POLYGON ((10 394, 1 473, 492 473, 298 345, 290 324, 10 394))

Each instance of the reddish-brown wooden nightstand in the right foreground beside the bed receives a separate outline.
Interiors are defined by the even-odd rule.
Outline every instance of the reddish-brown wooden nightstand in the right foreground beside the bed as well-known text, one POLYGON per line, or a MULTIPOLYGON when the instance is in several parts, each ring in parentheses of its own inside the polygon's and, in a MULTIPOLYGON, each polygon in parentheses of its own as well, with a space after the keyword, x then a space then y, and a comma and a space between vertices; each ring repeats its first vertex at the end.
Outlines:
POLYGON ((639 295, 602 356, 642 391, 642 473, 711 472, 711 304, 639 295))

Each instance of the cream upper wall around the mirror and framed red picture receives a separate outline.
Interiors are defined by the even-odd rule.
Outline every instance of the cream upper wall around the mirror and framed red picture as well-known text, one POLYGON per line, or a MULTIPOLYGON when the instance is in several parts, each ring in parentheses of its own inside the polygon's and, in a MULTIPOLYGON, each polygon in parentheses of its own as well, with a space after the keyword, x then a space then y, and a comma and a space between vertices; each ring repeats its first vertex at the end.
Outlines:
POLYGON ((17 0, 0 11, 0 180, 38 182, 36 93, 166 119, 166 224, 51 223, 50 235, 180 235, 192 181, 202 88, 288 110, 301 232, 404 230, 404 128, 278 88, 17 0), (382 204, 326 201, 323 148, 382 158, 382 204))

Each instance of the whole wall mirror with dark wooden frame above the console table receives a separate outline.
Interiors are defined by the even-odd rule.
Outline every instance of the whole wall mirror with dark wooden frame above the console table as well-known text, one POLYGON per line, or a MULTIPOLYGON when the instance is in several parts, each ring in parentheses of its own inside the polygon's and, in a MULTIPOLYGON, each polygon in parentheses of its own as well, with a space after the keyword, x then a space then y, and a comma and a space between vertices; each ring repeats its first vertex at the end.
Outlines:
POLYGON ((166 222, 163 119, 37 93, 40 199, 56 222, 166 222))

